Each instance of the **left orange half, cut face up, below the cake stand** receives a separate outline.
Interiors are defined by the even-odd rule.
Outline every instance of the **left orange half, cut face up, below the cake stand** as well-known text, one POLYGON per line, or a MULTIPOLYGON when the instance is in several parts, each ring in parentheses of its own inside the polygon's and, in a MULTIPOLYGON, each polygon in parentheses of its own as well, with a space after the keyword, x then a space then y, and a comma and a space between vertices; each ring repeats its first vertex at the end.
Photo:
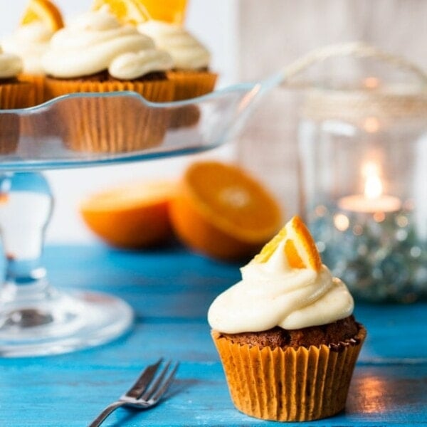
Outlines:
POLYGON ((112 246, 155 246, 172 236, 169 201, 174 190, 170 181, 122 184, 88 196, 80 213, 88 227, 112 246))

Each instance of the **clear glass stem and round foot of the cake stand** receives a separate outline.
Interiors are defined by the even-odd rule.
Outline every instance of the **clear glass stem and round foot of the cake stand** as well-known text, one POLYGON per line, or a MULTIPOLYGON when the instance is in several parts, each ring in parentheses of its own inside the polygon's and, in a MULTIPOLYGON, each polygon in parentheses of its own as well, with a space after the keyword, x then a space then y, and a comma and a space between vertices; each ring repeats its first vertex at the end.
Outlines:
POLYGON ((57 354, 110 341, 132 325, 126 302, 95 292, 61 292, 41 264, 53 196, 38 172, 0 175, 6 270, 0 290, 0 356, 57 354))

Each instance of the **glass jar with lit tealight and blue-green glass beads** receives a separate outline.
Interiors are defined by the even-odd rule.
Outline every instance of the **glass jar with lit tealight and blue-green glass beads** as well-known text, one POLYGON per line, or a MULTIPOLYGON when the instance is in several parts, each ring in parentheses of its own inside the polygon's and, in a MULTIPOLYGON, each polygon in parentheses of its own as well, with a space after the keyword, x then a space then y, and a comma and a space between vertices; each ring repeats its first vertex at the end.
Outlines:
POLYGON ((427 93, 364 83, 307 93, 302 214, 354 297, 413 302, 427 297, 427 93))

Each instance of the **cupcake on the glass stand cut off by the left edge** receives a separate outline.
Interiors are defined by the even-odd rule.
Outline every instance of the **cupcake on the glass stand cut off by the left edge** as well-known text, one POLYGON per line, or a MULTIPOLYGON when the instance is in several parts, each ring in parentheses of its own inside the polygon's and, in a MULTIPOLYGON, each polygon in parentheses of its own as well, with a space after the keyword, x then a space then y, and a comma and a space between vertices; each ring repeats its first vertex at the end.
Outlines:
MULTIPOLYGON (((0 109, 10 110, 28 106, 32 97, 32 85, 22 83, 17 75, 21 73, 22 60, 12 53, 4 53, 0 48, 0 109)), ((19 115, 14 112, 1 112, 0 115, 0 154, 16 151, 19 140, 19 115)))

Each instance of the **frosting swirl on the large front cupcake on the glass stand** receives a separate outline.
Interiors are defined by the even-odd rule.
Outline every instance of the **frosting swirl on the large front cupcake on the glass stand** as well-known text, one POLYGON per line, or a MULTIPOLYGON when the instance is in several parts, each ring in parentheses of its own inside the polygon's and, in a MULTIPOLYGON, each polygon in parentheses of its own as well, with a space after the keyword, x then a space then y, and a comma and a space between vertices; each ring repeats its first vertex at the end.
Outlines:
POLYGON ((123 26, 107 8, 89 11, 57 31, 43 56, 56 78, 78 78, 109 70, 119 79, 139 78, 172 67, 172 58, 134 26, 123 26))

